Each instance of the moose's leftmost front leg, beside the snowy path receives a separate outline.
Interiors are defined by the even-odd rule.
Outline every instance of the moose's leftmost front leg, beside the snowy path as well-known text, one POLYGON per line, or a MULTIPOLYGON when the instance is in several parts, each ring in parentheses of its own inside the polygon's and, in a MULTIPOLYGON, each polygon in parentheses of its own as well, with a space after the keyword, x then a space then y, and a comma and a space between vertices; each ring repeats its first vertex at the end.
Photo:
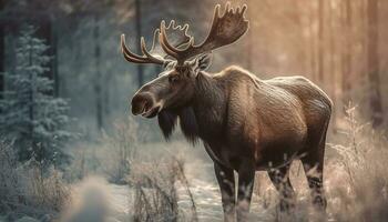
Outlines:
POLYGON ((235 181, 233 169, 225 168, 218 163, 214 163, 214 171, 217 178, 221 199, 224 209, 224 221, 235 221, 235 181))

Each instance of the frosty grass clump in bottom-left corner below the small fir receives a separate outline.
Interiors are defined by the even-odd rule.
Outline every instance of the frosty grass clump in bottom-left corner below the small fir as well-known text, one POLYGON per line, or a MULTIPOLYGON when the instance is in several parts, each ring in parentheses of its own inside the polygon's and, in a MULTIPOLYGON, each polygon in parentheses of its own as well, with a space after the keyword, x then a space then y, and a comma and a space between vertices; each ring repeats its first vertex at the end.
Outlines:
POLYGON ((19 163, 11 144, 0 142, 0 213, 9 220, 22 215, 55 215, 69 200, 68 185, 55 170, 42 170, 37 161, 19 163))

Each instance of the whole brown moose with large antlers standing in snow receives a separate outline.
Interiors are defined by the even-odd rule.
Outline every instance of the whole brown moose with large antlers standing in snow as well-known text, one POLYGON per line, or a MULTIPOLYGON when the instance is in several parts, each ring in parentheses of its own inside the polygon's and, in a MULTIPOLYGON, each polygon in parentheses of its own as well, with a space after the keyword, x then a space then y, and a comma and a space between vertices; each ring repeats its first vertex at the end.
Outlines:
POLYGON ((314 205, 325 211, 324 153, 333 102, 299 75, 262 80, 236 65, 205 72, 214 50, 248 30, 245 4, 234 9, 227 3, 222 14, 219 8, 215 7, 208 36, 200 44, 187 34, 188 24, 175 21, 161 22, 151 50, 141 38, 141 56, 131 52, 121 36, 129 62, 164 68, 134 94, 132 113, 157 115, 166 140, 178 124, 190 142, 204 143, 214 162, 225 221, 246 221, 256 171, 267 171, 280 194, 280 210, 288 212, 295 201, 288 176, 294 160, 303 163, 314 205))

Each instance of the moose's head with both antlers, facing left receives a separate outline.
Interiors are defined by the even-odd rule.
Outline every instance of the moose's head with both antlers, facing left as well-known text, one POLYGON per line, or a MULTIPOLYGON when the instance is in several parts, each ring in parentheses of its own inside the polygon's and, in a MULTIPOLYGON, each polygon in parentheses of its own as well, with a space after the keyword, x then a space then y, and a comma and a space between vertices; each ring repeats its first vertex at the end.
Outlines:
POLYGON ((160 29, 154 32, 151 50, 147 50, 144 38, 141 38, 142 56, 129 50, 125 36, 122 34, 122 52, 129 62, 154 63, 164 68, 156 79, 144 84, 134 94, 132 113, 153 118, 162 110, 188 105, 195 94, 198 73, 211 64, 211 52, 235 42, 247 31, 248 22, 244 19, 246 8, 244 6, 234 10, 227 3, 221 16, 217 4, 211 31, 200 44, 194 44, 194 37, 187 34, 188 24, 175 26, 175 21, 171 21, 167 27, 164 21, 161 22, 160 29), (174 36, 173 40, 169 40, 167 33, 174 36), (156 52, 157 40, 166 57, 156 52))

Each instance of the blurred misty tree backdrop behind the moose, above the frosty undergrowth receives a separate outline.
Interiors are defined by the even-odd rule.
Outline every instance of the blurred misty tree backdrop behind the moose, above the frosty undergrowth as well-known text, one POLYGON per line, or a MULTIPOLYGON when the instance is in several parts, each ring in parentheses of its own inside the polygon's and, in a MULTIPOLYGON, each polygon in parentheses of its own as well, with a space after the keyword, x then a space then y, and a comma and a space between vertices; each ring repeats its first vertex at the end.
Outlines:
MULTIPOLYGON (((14 70, 20 28, 28 23, 49 46, 53 94, 70 99, 75 128, 91 139, 129 115, 129 102, 139 87, 161 71, 154 65, 127 63, 120 34, 139 51, 140 38, 151 41, 161 20, 190 24, 196 42, 210 29, 216 3, 226 1, 61 0, 1 3, 0 90, 14 70)), ((386 127, 388 3, 378 0, 232 1, 248 6, 249 31, 237 43, 214 52, 211 72, 238 64, 262 79, 302 74, 335 101, 338 119, 348 101, 363 117, 386 127)), ((147 42, 149 46, 151 42, 147 42)), ((146 121, 151 122, 151 121, 146 121)))

